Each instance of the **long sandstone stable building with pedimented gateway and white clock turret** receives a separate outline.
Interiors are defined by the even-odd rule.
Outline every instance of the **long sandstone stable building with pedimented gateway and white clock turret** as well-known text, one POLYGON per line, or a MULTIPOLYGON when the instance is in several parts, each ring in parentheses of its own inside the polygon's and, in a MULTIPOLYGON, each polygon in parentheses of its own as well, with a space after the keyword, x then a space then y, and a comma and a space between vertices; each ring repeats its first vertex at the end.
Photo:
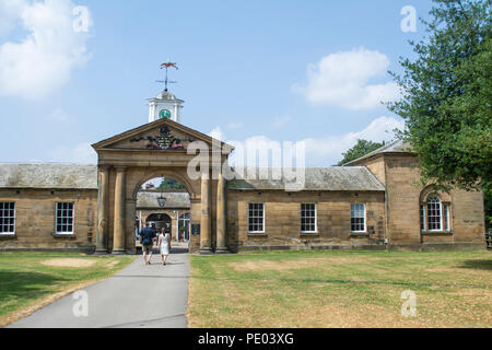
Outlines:
POLYGON ((305 168, 291 188, 276 168, 224 166, 233 148, 178 122, 181 104, 167 91, 149 100, 149 124, 93 144, 97 165, 0 164, 0 249, 131 254, 147 221, 201 254, 485 247, 482 192, 422 186, 400 141, 305 168), (186 190, 142 191, 155 177, 186 190))

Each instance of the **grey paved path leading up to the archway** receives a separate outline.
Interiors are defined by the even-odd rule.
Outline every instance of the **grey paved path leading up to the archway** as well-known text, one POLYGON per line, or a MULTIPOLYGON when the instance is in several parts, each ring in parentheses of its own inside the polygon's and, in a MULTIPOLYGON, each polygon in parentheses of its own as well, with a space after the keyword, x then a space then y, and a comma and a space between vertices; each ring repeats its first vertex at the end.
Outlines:
POLYGON ((160 255, 144 266, 141 256, 112 278, 85 288, 89 316, 75 317, 73 294, 65 296, 9 327, 186 327, 189 260, 172 254, 163 266, 160 255))

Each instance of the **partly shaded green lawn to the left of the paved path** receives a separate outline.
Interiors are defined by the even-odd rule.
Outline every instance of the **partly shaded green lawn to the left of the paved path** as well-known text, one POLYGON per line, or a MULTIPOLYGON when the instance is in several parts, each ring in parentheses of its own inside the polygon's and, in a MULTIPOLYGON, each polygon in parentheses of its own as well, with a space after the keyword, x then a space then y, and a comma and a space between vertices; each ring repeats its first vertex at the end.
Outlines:
POLYGON ((1 253, 0 326, 25 317, 77 289, 108 278, 134 256, 1 253))

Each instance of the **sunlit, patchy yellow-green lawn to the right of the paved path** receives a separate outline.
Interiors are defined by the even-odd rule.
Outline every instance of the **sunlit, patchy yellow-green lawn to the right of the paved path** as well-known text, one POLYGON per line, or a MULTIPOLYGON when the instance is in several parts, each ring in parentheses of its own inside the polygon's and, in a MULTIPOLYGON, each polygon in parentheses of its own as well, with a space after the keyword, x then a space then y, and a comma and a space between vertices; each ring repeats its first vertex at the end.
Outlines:
POLYGON ((492 326, 490 252, 191 256, 189 289, 191 327, 492 326))

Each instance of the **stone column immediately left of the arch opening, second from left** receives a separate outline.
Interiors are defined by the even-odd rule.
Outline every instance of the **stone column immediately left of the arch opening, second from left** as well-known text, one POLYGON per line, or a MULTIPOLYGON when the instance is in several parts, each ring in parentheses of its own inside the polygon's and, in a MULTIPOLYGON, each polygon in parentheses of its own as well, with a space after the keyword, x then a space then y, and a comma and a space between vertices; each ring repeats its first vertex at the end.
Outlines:
POLYGON ((125 254, 125 167, 116 167, 113 254, 125 254))

